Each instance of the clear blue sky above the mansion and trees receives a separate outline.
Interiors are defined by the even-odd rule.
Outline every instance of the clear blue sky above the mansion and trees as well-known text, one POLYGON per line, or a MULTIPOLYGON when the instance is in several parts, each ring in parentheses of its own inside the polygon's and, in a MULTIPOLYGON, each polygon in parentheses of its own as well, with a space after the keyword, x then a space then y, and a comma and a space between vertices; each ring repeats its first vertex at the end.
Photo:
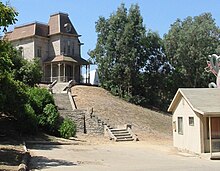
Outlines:
MULTIPOLYGON (((8 1, 8 0, 7 0, 8 1)), ((3 3, 6 0, 2 1, 3 3)), ((87 52, 95 48, 97 34, 95 22, 99 16, 108 18, 121 3, 129 9, 131 4, 140 6, 146 29, 156 31, 161 37, 168 33, 170 25, 177 18, 184 20, 188 16, 198 16, 210 12, 220 26, 219 0, 9 0, 19 15, 14 26, 34 21, 47 23, 51 14, 68 13, 78 34, 84 43, 81 54, 88 59, 87 52)), ((12 30, 14 26, 10 26, 12 30)))

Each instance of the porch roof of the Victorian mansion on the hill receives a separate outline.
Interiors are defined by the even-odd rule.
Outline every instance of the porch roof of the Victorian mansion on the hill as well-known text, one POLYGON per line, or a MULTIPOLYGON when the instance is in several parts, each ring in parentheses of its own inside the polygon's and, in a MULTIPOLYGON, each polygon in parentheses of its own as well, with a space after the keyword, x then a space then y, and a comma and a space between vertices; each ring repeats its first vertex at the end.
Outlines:
POLYGON ((58 55, 55 56, 54 58, 48 58, 47 60, 44 61, 45 63, 55 63, 55 62, 73 62, 73 63, 78 63, 80 65, 87 65, 89 62, 87 62, 83 58, 76 58, 76 57, 70 57, 70 56, 64 56, 64 55, 58 55))

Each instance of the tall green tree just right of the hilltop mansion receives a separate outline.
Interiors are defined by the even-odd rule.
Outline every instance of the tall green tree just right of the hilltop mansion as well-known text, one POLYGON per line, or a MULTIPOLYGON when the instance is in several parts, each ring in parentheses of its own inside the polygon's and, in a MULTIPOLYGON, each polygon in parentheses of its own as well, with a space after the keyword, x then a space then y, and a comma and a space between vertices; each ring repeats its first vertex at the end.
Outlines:
POLYGON ((141 64, 146 60, 145 27, 139 6, 132 5, 127 12, 121 4, 108 19, 99 18, 96 32, 97 44, 89 55, 98 65, 102 86, 121 97, 135 95, 141 64))

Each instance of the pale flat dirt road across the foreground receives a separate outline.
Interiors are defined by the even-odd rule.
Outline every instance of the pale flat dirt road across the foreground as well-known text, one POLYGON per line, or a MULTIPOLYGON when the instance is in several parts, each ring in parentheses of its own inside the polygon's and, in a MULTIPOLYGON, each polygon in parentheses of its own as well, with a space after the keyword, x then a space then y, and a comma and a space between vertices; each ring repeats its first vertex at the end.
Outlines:
POLYGON ((177 153, 171 145, 147 142, 33 146, 32 170, 146 171, 219 170, 219 161, 177 153))

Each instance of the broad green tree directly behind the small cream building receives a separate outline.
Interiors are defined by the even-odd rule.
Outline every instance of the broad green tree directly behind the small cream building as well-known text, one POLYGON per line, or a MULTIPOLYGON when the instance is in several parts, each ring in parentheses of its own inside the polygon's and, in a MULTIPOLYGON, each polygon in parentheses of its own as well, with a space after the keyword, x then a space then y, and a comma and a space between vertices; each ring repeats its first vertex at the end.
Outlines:
POLYGON ((173 90, 178 87, 207 87, 210 74, 208 55, 217 53, 220 47, 220 30, 210 13, 196 17, 177 19, 164 36, 166 55, 175 68, 173 90))

